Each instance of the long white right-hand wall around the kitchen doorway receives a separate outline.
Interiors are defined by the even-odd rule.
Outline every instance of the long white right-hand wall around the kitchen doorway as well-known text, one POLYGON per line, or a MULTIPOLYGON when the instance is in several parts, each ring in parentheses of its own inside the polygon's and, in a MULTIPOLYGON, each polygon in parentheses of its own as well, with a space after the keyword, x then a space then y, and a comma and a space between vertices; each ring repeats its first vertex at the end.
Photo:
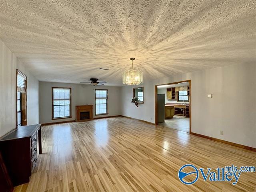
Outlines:
MULTIPOLYGON (((154 86, 191 80, 192 132, 256 148, 256 64, 239 64, 146 81, 144 104, 121 89, 122 115, 154 123, 154 86), (207 94, 213 94, 212 99, 207 94), (220 135, 220 130, 224 135, 220 135)), ((141 85, 140 85, 141 86, 141 85)))

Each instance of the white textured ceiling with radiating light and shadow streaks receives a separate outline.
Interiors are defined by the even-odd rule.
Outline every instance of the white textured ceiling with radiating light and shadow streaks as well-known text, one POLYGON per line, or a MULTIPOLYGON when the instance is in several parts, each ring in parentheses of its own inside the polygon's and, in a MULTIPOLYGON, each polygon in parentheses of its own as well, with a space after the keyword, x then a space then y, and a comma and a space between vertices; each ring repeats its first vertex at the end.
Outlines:
POLYGON ((130 57, 144 80, 255 62, 256 1, 0 0, 0 38, 39 80, 122 85, 130 57))

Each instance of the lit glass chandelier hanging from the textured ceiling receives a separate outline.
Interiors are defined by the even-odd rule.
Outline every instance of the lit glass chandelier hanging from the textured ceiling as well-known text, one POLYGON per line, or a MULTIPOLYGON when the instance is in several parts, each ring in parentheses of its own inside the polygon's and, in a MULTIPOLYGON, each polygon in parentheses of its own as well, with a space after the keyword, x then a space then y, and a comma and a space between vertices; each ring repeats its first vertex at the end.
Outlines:
POLYGON ((142 84, 143 82, 142 71, 133 69, 133 60, 135 60, 135 58, 130 58, 130 60, 132 60, 132 69, 123 72, 123 84, 127 84, 127 85, 138 85, 140 83, 142 84))

